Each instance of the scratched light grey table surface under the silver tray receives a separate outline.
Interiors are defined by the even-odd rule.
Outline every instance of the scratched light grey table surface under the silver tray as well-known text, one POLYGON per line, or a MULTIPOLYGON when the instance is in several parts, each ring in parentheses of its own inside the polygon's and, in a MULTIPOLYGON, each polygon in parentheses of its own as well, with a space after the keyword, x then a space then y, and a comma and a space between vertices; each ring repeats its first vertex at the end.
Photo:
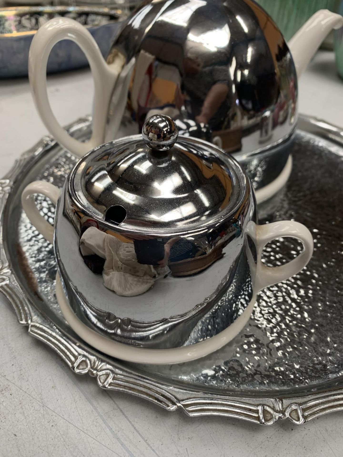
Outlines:
MULTIPOLYGON (((89 70, 53 75, 48 93, 63 124, 91 112, 89 70)), ((316 54, 299 83, 300 112, 343 126, 343 81, 333 53, 316 54)), ((0 82, 0 171, 47 133, 27 80, 0 82)), ((187 417, 100 389, 27 334, 0 296, 0 457, 341 456, 343 413, 270 427, 187 417)))

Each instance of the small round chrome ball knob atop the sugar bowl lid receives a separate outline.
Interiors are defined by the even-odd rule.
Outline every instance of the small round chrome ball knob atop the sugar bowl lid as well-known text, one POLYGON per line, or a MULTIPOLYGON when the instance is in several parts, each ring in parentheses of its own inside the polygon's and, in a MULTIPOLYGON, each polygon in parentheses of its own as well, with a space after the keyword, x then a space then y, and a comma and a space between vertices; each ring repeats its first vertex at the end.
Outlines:
POLYGON ((176 123, 164 114, 150 116, 142 128, 145 144, 153 150, 166 151, 171 149, 179 132, 176 123))

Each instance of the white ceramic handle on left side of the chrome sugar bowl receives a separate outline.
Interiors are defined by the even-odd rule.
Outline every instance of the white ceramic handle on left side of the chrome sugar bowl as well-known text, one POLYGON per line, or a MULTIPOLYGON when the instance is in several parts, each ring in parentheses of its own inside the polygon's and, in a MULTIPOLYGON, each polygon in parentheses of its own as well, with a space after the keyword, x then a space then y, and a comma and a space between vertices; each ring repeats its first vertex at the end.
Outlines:
POLYGON ((54 227, 39 213, 33 200, 34 194, 43 194, 56 205, 59 199, 60 189, 46 181, 33 181, 25 187, 21 194, 21 204, 30 222, 52 244, 54 227))

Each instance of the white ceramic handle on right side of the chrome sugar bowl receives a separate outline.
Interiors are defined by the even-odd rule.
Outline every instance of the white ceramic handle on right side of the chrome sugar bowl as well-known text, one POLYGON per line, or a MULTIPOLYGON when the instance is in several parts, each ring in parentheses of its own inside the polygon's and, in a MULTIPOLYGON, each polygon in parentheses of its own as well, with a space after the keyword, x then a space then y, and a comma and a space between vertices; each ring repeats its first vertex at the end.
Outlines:
POLYGON ((294 276, 311 259, 313 252, 313 238, 305 225, 294 221, 279 221, 256 226, 257 271, 255 287, 261 290, 277 282, 294 276), (276 238, 292 237, 299 239, 304 245, 304 250, 290 262, 275 267, 265 266, 261 261, 264 246, 276 238))

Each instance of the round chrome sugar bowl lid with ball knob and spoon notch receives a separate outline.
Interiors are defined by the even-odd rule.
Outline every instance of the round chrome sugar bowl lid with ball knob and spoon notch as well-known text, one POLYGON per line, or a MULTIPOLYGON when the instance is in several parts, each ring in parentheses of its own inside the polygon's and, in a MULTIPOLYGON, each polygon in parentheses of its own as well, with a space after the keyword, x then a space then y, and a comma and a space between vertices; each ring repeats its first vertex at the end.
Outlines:
POLYGON ((164 115, 150 117, 142 136, 87 154, 69 181, 82 213, 125 232, 204 228, 235 213, 248 189, 234 159, 202 140, 178 138, 164 115))

